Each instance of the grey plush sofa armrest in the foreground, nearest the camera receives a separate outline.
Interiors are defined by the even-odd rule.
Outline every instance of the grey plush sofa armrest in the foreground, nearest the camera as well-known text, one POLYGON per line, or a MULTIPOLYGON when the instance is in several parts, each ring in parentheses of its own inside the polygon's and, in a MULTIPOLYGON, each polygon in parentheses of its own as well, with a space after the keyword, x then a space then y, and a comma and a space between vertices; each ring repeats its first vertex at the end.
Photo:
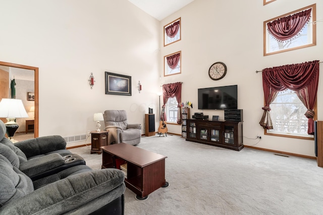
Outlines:
POLYGON ((96 199, 99 202, 87 206, 87 209, 95 211, 121 196, 124 191, 124 174, 121 170, 93 170, 68 176, 8 202, 0 208, 0 213, 63 214, 96 199), (109 202, 106 199, 100 201, 100 196, 104 194, 109 195, 109 202))

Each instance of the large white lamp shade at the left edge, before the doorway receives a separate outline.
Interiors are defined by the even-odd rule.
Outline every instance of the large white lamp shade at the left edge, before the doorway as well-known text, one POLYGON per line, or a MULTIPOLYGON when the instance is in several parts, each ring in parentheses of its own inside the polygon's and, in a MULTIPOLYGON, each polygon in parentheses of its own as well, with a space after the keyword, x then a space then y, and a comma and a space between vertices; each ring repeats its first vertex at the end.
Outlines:
POLYGON ((20 99, 2 99, 0 102, 1 118, 27 118, 29 117, 20 99))

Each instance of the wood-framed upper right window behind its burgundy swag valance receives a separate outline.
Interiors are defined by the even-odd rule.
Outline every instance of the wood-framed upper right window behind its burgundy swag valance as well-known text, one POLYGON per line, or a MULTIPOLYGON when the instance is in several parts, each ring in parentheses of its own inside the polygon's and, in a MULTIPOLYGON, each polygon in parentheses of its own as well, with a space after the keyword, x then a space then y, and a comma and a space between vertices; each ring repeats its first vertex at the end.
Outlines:
POLYGON ((291 12, 289 14, 285 14, 280 17, 276 17, 271 20, 267 20, 263 22, 263 28, 264 28, 264 53, 263 55, 269 55, 269 54, 275 54, 280 53, 284 51, 299 49, 299 48, 305 48, 308 46, 313 46, 316 44, 316 25, 313 25, 313 21, 316 20, 315 14, 316 5, 311 5, 306 8, 302 8, 300 10, 291 12), (299 33, 291 39, 287 39, 284 41, 281 41, 277 38, 275 38, 270 32, 268 31, 267 23, 273 23, 275 21, 281 20, 281 18, 289 17, 293 14, 297 14, 300 12, 303 12, 305 10, 311 9, 310 19, 308 22, 304 25, 302 30, 299 31, 299 33))

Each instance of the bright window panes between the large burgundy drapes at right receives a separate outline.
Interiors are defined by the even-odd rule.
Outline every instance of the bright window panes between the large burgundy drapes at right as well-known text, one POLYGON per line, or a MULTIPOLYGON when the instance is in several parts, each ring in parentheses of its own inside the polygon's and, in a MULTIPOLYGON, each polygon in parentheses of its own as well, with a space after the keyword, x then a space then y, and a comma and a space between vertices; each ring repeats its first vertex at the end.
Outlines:
POLYGON ((266 134, 313 137, 307 134, 306 110, 295 91, 279 92, 270 111, 274 129, 267 129, 266 134))

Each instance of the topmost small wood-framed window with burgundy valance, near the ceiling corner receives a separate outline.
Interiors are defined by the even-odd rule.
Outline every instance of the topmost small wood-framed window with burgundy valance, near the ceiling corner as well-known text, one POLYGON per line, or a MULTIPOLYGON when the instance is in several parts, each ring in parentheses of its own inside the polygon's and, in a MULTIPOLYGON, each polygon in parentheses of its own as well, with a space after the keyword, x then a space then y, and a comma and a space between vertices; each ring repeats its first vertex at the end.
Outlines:
POLYGON ((181 18, 164 26, 164 46, 181 40, 181 18))

